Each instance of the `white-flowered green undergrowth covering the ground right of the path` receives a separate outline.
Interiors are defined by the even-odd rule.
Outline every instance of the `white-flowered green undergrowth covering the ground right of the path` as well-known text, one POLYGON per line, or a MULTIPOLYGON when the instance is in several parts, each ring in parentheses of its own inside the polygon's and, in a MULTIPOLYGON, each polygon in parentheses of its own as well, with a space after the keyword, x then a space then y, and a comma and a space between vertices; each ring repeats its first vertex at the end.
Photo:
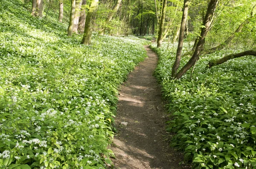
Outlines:
POLYGON ((209 60, 226 55, 219 51, 198 60, 191 81, 191 70, 173 80, 167 77, 177 48, 152 48, 160 57, 155 75, 173 119, 167 130, 177 133, 172 146, 184 151, 193 168, 256 168, 256 58, 244 56, 206 68, 209 60))

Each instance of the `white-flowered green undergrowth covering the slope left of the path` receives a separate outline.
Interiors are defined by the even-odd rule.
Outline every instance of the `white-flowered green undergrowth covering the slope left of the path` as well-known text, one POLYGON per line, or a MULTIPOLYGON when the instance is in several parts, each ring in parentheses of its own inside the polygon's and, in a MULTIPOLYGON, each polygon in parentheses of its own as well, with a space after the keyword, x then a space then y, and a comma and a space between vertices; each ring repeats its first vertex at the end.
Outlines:
POLYGON ((0 168, 105 168, 117 89, 148 41, 94 35, 81 45, 18 0, 0 8, 0 168))

